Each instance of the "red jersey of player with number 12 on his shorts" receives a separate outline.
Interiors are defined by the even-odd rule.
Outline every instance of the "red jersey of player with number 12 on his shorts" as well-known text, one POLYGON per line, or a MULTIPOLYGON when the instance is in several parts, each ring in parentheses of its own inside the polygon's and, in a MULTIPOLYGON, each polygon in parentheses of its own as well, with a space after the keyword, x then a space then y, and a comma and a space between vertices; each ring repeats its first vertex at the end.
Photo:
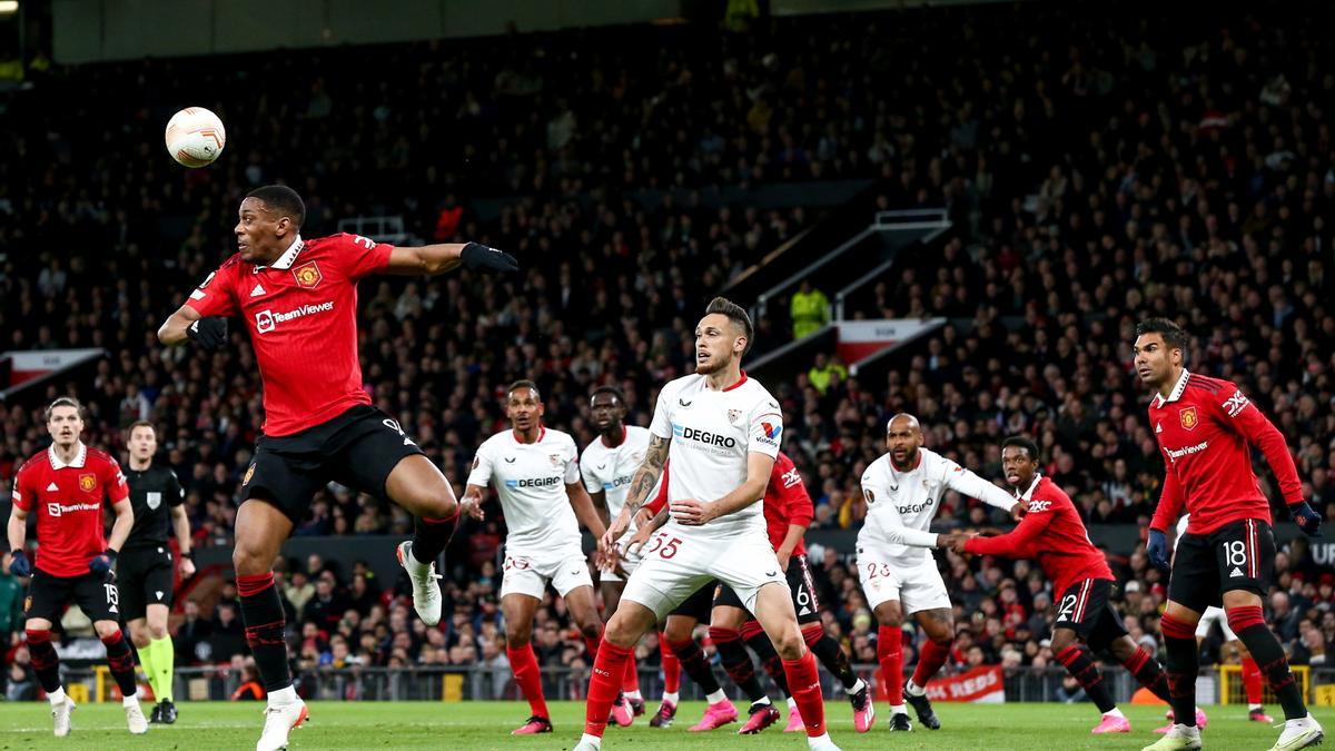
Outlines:
POLYGON ((973 537, 964 544, 965 552, 1033 559, 1052 580, 1057 595, 1076 581, 1113 579, 1103 552, 1089 541, 1071 496, 1052 480, 1040 476, 1020 500, 1029 504, 1029 510, 1015 529, 999 537, 973 537))

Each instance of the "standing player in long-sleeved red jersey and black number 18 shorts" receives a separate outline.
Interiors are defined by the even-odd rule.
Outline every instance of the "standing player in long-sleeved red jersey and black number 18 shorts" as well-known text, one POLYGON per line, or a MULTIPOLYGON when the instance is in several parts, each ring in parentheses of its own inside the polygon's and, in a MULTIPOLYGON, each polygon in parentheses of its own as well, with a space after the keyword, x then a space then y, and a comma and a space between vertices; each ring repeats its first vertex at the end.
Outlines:
POLYGON ((1169 571, 1168 531, 1183 506, 1191 514, 1177 541, 1161 620, 1175 724, 1147 751, 1200 748, 1192 712, 1199 669, 1196 621, 1206 608, 1220 603, 1230 628, 1284 707, 1284 730, 1272 751, 1315 746, 1322 742, 1322 726, 1307 712, 1284 648, 1262 613, 1275 565, 1275 537, 1270 501, 1252 472, 1251 446, 1266 454, 1284 502, 1306 535, 1318 533, 1320 516, 1303 500, 1284 436, 1232 382, 1188 371, 1188 343, 1187 331, 1172 321, 1151 318, 1136 326, 1136 374, 1155 392, 1149 425, 1167 465, 1145 545, 1151 564, 1169 571))

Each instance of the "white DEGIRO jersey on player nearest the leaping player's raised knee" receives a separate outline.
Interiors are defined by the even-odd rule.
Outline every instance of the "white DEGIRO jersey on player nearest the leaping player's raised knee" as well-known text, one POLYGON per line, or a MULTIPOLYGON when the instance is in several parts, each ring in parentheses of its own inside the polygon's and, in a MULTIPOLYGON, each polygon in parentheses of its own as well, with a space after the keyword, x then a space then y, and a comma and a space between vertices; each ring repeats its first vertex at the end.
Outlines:
POLYGON ((514 430, 491 436, 478 446, 469 473, 469 485, 493 484, 501 496, 509 551, 578 545, 579 522, 566 496, 566 485, 578 481, 574 438, 547 428, 533 444, 517 441, 514 430))

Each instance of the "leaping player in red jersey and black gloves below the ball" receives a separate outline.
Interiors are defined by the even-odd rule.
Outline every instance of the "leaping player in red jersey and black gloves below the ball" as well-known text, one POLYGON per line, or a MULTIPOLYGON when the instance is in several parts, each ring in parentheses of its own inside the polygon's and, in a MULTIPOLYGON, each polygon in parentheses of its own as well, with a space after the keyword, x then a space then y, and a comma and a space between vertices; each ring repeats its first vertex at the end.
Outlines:
POLYGON ((368 274, 437 275, 463 266, 515 271, 509 254, 478 243, 394 247, 338 234, 303 239, 306 206, 296 191, 247 194, 236 222, 238 253, 190 294, 158 331, 166 345, 204 349, 227 342, 227 318, 242 317, 264 384, 264 426, 242 480, 236 513, 236 588, 246 641, 268 691, 256 751, 287 747, 306 720, 292 688, 274 560, 311 496, 334 480, 386 497, 417 517, 398 548, 413 580, 413 607, 441 620, 435 560, 458 521, 449 481, 388 414, 371 406, 356 353, 356 282, 368 274), (263 501, 263 502, 251 502, 263 501))

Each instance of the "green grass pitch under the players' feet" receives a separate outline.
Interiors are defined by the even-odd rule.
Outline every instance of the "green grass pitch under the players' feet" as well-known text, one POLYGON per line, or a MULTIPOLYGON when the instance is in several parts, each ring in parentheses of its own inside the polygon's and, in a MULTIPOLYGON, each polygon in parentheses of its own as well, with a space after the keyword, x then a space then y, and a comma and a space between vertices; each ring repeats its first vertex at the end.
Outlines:
MULTIPOLYGON (((45 702, 0 704, 0 750, 203 751, 255 747, 263 723, 259 703, 182 703, 179 708, 180 722, 175 726, 154 726, 147 736, 135 738, 125 730, 119 704, 83 704, 75 711, 73 732, 69 738, 57 739, 51 735, 45 702)), ((1267 708, 1275 714, 1279 710, 1267 708)), ((527 710, 518 702, 314 702, 311 720, 292 732, 290 748, 565 750, 579 739, 582 703, 551 703, 557 728, 551 735, 510 736, 510 731, 526 719, 527 710)), ((857 735, 848 704, 830 702, 834 742, 842 748, 878 750, 1129 750, 1153 743, 1159 736, 1152 731, 1163 724, 1163 708, 1124 706, 1133 731, 1129 735, 1095 736, 1089 728, 1096 724, 1099 712, 1091 704, 937 704, 944 726, 940 731, 914 727, 910 734, 892 735, 886 730, 884 704, 877 710, 876 730, 857 735)), ((686 703, 677 714, 677 723, 668 730, 651 728, 647 718, 637 718, 630 728, 610 728, 603 748, 806 748, 801 735, 784 734, 781 727, 772 727, 758 736, 737 735, 737 724, 713 732, 688 732, 686 728, 702 712, 704 704, 686 703)), ((1246 707, 1214 707, 1210 715, 1210 727, 1203 734, 1206 748, 1264 750, 1279 738, 1279 730, 1247 722, 1246 707)), ((1328 728, 1335 728, 1335 712, 1323 707, 1315 715, 1328 728)))

